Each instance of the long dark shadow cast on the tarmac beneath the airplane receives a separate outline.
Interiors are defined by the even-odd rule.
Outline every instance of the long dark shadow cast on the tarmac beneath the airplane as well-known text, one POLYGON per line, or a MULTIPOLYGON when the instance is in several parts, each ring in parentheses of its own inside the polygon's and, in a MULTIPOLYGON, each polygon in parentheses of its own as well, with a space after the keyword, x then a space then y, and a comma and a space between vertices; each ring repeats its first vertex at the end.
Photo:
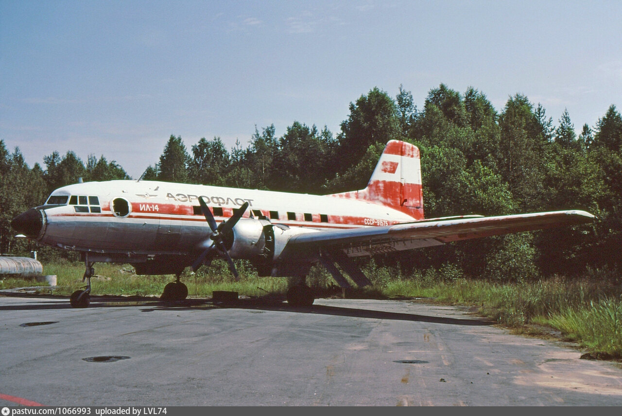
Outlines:
MULTIPOLYGON (((28 297, 21 295, 19 297, 28 297)), ((37 296, 37 298, 39 298, 37 296)), ((22 303, 19 305, 0 305, 1 310, 60 310, 72 309, 67 297, 49 296, 55 300, 42 300, 41 302, 22 303), (63 300, 64 302, 59 302, 63 300)), ((494 321, 486 318, 448 318, 432 317, 429 315, 417 315, 414 313, 385 312, 381 310, 368 310, 358 308, 346 308, 325 305, 313 305, 311 307, 293 307, 284 303, 282 299, 275 298, 242 298, 231 303, 213 303, 210 299, 188 298, 182 301, 169 302, 154 297, 114 297, 92 296, 89 308, 111 307, 139 307, 141 312, 155 312, 159 310, 209 310, 214 308, 236 308, 248 310, 264 310, 275 312, 312 313, 317 315, 333 315, 338 317, 368 318, 381 320, 419 321, 430 323, 443 323, 447 325, 485 326, 493 325, 494 321)))

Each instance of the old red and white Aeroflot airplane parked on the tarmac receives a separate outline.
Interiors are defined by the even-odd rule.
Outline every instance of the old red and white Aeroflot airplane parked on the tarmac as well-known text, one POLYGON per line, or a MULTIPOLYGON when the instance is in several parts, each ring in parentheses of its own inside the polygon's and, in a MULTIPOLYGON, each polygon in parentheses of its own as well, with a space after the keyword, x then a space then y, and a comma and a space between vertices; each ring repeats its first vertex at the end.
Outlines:
POLYGON ((53 191, 11 226, 39 244, 80 252, 86 286, 73 292, 72 307, 88 307, 96 262, 129 263, 138 275, 174 274, 161 298, 183 300, 182 271, 216 257, 236 279, 233 259, 250 261, 261 277, 297 277, 287 302, 308 307, 314 298, 305 279, 313 264, 326 267, 341 287, 351 287, 342 272, 366 286, 371 281, 352 257, 594 218, 570 210, 426 219, 423 206, 419 149, 392 140, 362 190, 308 195, 141 179, 84 182, 53 191))

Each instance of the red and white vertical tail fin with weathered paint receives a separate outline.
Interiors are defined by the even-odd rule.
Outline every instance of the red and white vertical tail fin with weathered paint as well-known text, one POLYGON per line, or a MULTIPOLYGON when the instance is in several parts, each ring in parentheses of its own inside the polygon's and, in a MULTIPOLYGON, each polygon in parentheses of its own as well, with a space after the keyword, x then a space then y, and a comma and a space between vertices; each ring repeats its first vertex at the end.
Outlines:
POLYGON ((416 220, 424 218, 419 149, 407 142, 387 143, 367 187, 332 196, 390 206, 416 220))

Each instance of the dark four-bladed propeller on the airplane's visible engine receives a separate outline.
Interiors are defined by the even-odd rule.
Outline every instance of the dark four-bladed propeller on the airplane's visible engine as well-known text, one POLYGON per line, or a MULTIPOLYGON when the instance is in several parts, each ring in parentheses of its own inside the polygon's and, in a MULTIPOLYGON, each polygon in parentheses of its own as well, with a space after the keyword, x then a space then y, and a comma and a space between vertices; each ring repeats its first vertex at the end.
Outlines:
POLYGON ((229 233, 233 229, 235 224, 238 223, 238 220, 242 218, 244 212, 246 212, 246 208, 248 208, 248 202, 244 202, 244 205, 240 206, 238 210, 234 210, 233 215, 231 215, 231 218, 229 218, 229 220, 223 221, 218 226, 216 226, 216 220, 214 220, 214 216, 211 214, 210 208, 207 207, 205 201, 203 201, 203 198, 198 198, 198 203, 201 205, 201 212, 203 213, 203 216, 205 216, 205 220, 210 225, 210 239, 213 243, 211 243, 211 246, 207 247, 207 249, 203 250, 200 256, 198 256, 197 259, 192 263, 192 270, 196 271, 198 267, 203 264, 203 262, 205 262, 205 264, 209 266, 213 257, 215 255, 219 255, 225 258, 225 260, 229 264, 229 270, 231 270, 231 273, 233 273, 235 279, 238 280, 238 270, 235 269, 233 259, 231 259, 231 256, 227 252, 225 242, 223 241, 223 236, 225 236, 226 233, 229 233), (207 261, 205 261, 205 258, 208 255, 210 257, 207 261))

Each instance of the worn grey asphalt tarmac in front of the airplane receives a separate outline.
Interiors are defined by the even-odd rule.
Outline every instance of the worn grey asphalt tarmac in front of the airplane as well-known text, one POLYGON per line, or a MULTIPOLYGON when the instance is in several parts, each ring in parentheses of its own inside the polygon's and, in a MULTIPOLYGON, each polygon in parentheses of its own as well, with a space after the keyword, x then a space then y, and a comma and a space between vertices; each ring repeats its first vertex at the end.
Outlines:
POLYGON ((0 297, 0 406, 622 404, 620 364, 421 300, 0 297))

